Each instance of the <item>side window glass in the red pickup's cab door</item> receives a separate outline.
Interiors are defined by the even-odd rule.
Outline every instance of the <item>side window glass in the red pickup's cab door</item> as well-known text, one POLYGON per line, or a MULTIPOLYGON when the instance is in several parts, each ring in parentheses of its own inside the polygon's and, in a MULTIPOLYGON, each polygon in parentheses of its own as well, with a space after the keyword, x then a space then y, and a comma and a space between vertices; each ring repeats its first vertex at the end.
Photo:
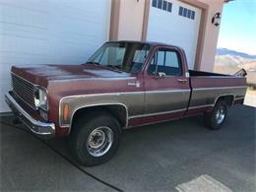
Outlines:
POLYGON ((160 48, 154 55, 148 73, 155 75, 156 71, 166 76, 181 76, 180 56, 175 50, 160 48))

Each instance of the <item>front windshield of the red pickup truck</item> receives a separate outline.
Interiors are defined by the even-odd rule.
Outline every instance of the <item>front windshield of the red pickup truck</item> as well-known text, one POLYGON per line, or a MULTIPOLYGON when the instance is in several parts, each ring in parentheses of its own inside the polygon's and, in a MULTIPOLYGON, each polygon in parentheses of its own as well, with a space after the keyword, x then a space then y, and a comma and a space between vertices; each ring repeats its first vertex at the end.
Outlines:
POLYGON ((138 42, 107 42, 86 64, 116 68, 129 73, 141 71, 150 52, 150 45, 138 42))

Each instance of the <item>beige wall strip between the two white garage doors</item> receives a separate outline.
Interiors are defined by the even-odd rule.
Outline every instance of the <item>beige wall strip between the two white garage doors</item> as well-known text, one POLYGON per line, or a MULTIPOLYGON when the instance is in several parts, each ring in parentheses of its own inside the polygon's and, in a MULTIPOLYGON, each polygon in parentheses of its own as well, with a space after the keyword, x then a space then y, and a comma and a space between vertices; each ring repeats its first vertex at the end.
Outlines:
POLYGON ((141 40, 145 0, 121 0, 119 40, 141 40))

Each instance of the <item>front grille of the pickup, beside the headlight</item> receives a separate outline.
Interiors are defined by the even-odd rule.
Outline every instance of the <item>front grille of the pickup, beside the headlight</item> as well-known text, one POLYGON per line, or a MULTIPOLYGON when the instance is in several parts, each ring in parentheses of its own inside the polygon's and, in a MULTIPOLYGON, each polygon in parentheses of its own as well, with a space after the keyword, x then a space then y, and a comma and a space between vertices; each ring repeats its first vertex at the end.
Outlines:
POLYGON ((32 108, 35 108, 34 99, 33 99, 33 88, 32 83, 26 81, 25 79, 12 74, 12 85, 15 95, 19 96, 32 108))

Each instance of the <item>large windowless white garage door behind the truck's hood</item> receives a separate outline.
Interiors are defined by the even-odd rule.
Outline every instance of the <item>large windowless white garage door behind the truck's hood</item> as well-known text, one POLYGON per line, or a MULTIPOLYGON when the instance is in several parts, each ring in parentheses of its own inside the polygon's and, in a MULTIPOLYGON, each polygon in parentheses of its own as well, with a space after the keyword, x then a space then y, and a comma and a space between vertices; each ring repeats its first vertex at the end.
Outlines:
POLYGON ((78 64, 108 40, 110 0, 0 0, 0 112, 10 67, 78 64))

